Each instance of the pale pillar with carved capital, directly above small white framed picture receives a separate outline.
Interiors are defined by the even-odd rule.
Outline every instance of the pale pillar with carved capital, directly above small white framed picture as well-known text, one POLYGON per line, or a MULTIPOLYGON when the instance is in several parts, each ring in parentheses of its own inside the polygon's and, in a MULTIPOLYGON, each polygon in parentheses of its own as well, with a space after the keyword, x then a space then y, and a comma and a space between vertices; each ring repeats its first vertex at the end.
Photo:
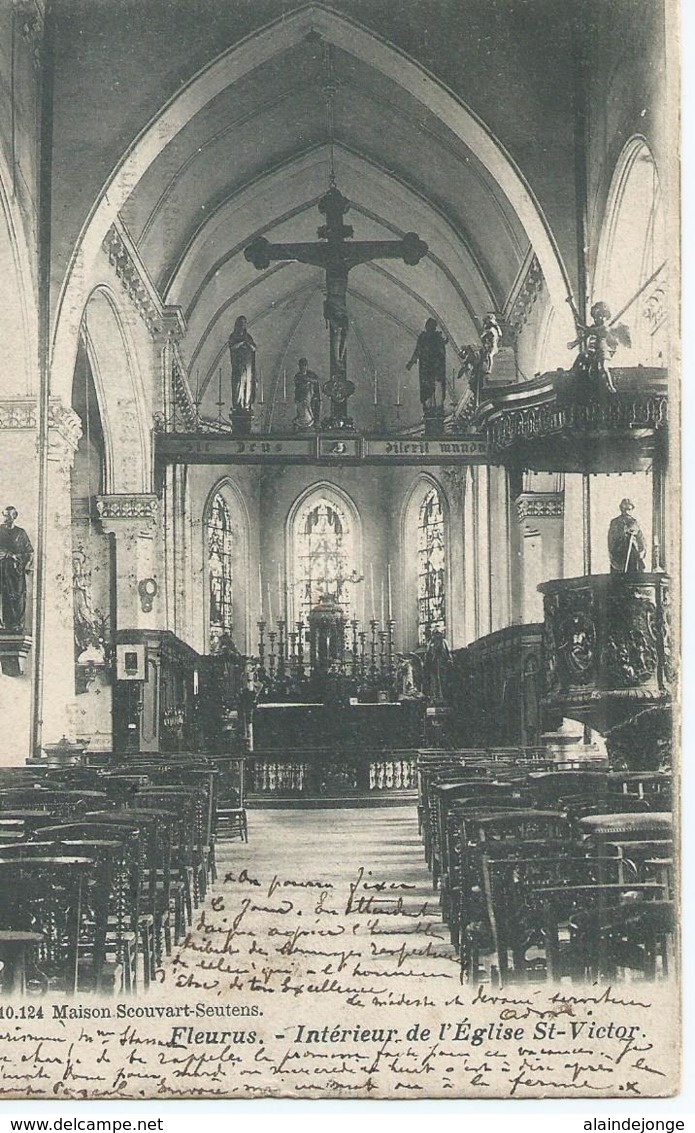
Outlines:
POLYGON ((164 621, 164 595, 158 578, 158 499, 150 493, 102 495, 96 509, 103 530, 113 537, 116 555, 116 629, 158 629, 164 621), (156 594, 144 593, 154 579, 156 594))

